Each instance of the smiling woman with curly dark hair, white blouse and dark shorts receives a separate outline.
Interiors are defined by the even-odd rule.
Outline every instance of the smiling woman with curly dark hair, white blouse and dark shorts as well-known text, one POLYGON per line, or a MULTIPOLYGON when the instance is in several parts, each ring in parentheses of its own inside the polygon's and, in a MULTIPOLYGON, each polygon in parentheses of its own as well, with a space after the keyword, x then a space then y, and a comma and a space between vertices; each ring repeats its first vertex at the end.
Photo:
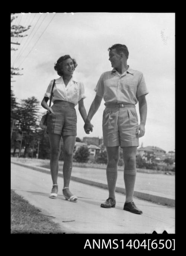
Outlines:
POLYGON ((77 67, 76 60, 69 55, 64 55, 57 60, 54 69, 57 71, 60 78, 55 80, 54 89, 52 92, 52 107, 49 107, 47 102, 51 95, 52 84, 49 83, 47 92, 41 102, 42 107, 47 109, 49 115, 47 120, 47 133, 51 146, 51 176, 53 186, 50 198, 57 198, 58 194, 58 160, 60 157, 60 141, 63 139, 64 149, 64 164, 63 164, 63 195, 66 200, 77 202, 77 196, 73 195, 69 190, 69 183, 72 171, 73 151, 76 142, 76 124, 77 115, 74 108, 78 104, 78 109, 84 120, 86 121, 87 113, 84 107, 83 99, 84 85, 73 77, 73 72, 77 67))

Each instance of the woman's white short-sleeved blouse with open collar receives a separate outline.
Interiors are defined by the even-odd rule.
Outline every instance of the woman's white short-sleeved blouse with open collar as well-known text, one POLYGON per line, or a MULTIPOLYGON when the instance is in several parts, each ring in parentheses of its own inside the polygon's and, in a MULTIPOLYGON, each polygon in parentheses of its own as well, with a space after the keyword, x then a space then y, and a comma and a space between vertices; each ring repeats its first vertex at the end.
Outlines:
MULTIPOLYGON (((49 83, 44 97, 50 98, 53 82, 54 80, 51 80, 49 83)), ((52 102, 59 99, 62 101, 69 101, 77 105, 78 101, 80 101, 82 98, 86 98, 84 95, 84 85, 82 82, 78 82, 76 78, 72 77, 65 87, 62 76, 55 80, 52 93, 52 102)))

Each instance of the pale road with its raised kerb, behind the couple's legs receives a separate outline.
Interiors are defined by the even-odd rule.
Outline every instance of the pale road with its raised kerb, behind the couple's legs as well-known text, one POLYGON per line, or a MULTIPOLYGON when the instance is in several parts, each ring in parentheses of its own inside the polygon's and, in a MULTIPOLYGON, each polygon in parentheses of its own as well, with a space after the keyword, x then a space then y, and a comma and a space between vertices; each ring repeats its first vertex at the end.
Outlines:
MULTIPOLYGON (((49 173, 49 162, 40 162, 38 159, 17 159, 12 162, 33 170, 49 173), (45 167, 45 168, 43 168, 45 167)), ((62 176, 62 164, 59 164, 59 176, 62 176)), ((73 166, 71 180, 108 189, 105 169, 81 168, 73 166)), ((125 194, 123 171, 118 171, 116 192, 125 194)), ((175 176, 154 173, 137 173, 134 196, 164 205, 175 206, 175 176)))

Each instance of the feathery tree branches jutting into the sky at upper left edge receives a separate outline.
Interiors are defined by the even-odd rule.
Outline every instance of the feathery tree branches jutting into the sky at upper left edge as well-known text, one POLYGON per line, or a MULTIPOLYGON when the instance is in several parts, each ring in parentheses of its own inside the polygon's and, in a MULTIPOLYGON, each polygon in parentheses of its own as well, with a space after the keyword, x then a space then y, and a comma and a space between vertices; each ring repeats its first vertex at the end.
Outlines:
MULTIPOLYGON (((23 35, 22 33, 24 33, 25 31, 27 31, 31 26, 21 26, 21 25, 12 25, 13 20, 15 20, 17 18, 17 16, 14 16, 15 13, 11 13, 11 38, 19 38, 19 37, 26 37, 27 35, 23 35)), ((12 42, 11 42, 12 44, 12 42)), ((18 44, 18 43, 17 43, 18 44)), ((16 51, 17 49, 11 47, 11 51, 16 51)), ((11 65, 11 78, 13 78, 13 76, 16 75, 23 75, 19 73, 19 68, 18 67, 13 67, 11 65)))

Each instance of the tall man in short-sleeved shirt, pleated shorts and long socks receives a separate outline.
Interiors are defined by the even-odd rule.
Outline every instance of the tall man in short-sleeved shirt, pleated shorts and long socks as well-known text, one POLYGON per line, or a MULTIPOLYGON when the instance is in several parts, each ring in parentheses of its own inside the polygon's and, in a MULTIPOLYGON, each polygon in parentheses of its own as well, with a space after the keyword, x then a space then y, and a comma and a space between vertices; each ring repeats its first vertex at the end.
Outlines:
POLYGON ((115 187, 117 180, 117 165, 119 160, 119 146, 124 156, 124 182, 126 200, 124 210, 135 214, 142 214, 133 202, 134 185, 136 178, 136 152, 139 138, 145 134, 147 118, 148 94, 144 76, 140 71, 131 69, 128 64, 128 48, 126 45, 114 44, 108 49, 112 71, 104 72, 100 76, 96 88, 96 97, 90 107, 84 130, 92 131, 90 123, 98 110, 102 98, 105 101, 103 111, 103 143, 106 146, 108 164, 106 177, 109 189, 109 198, 101 204, 103 208, 115 207, 115 187), (140 124, 138 125, 135 104, 139 102, 140 124))

